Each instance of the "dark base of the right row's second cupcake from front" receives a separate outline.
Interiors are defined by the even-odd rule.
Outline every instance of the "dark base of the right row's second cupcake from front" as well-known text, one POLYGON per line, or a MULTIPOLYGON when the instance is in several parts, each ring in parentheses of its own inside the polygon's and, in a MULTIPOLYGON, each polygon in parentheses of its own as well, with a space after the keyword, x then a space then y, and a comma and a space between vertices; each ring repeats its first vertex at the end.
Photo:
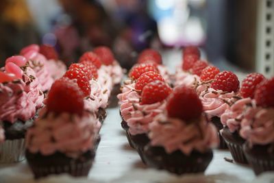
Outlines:
POLYGON ((238 132, 229 132, 228 127, 224 127, 221 136, 227 144, 234 161, 242 164, 248 164, 247 158, 245 158, 245 153, 242 150, 242 145, 245 143, 245 140, 240 137, 238 132))

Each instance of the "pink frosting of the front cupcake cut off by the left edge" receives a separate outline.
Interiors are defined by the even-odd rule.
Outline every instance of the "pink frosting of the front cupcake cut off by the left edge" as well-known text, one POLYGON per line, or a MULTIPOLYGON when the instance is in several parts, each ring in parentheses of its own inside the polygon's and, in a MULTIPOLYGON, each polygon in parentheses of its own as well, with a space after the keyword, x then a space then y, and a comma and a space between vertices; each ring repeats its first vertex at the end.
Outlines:
POLYGON ((36 106, 24 91, 22 80, 0 83, 0 121, 14 123, 17 119, 27 121, 34 117, 36 106))

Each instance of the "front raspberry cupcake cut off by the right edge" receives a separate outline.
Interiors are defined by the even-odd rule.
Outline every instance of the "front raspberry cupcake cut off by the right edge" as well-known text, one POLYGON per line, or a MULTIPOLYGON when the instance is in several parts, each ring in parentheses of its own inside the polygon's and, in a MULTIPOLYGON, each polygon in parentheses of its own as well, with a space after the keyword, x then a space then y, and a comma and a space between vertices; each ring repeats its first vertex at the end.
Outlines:
POLYGON ((243 150, 256 175, 274 171, 274 77, 260 84, 241 121, 240 136, 246 140, 243 150))

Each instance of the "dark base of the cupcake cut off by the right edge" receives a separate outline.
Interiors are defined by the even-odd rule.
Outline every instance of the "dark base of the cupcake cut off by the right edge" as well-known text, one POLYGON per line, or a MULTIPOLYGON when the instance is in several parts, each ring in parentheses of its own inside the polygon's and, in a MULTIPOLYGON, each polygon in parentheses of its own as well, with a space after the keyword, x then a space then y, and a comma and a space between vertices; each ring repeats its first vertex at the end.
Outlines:
POLYGON ((248 143, 245 143, 242 148, 256 175, 266 171, 274 171, 273 145, 272 147, 271 145, 253 145, 253 147, 249 147, 248 143))

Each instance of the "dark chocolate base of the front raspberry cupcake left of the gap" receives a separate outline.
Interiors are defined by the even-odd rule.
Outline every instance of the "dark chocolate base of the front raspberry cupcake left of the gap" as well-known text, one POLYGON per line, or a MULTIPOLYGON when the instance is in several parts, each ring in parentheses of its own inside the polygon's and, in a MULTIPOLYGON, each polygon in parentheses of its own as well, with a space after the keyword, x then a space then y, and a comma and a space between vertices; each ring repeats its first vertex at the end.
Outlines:
POLYGON ((50 156, 40 153, 32 154, 26 151, 29 167, 34 173, 34 178, 43 178, 47 175, 69 173, 74 177, 87 176, 95 158, 93 151, 87 151, 79 158, 69 158, 60 152, 50 156))

